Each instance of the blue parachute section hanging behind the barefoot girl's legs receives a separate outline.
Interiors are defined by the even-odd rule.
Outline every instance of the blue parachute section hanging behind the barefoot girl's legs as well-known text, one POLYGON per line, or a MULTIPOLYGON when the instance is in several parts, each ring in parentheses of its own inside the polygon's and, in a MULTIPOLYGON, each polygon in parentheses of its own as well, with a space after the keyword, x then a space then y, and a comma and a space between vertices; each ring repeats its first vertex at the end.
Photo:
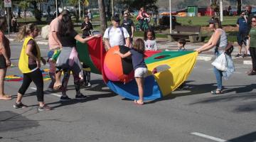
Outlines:
MULTIPOLYGON (((145 77, 144 82, 144 100, 159 99, 162 97, 159 85, 154 79, 154 75, 145 77)), ((132 80, 127 84, 109 81, 107 82, 107 86, 122 97, 139 99, 138 86, 135 80, 132 80)))

